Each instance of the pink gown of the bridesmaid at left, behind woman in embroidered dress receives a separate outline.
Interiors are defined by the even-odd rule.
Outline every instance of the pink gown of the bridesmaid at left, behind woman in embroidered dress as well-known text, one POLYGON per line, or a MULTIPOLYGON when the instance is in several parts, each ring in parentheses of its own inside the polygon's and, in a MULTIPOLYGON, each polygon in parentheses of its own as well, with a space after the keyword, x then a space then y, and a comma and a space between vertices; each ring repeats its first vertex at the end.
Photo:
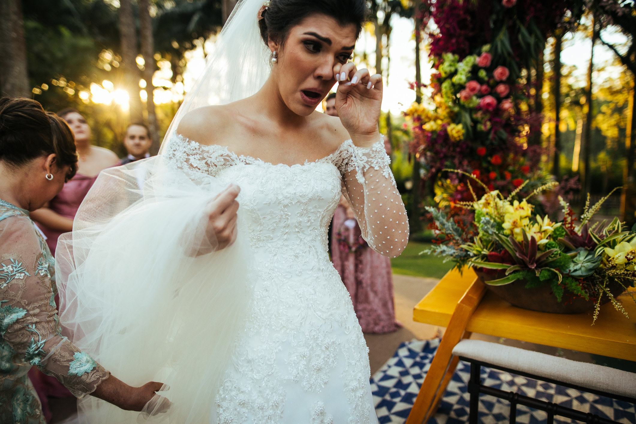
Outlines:
MULTIPOLYGON (((60 191, 60 193, 51 200, 49 203, 50 209, 64 217, 74 219, 75 214, 78 212, 80 203, 84 200, 88 190, 90 190, 93 186, 96 179, 97 175, 95 175, 95 177, 86 177, 85 175, 75 174, 72 179, 64 184, 62 191, 60 191)), ((46 244, 48 244, 51 254, 55 255, 57 238, 63 233, 63 231, 46 228, 39 222, 38 227, 46 235, 46 244)), ((59 296, 57 294, 55 295, 55 304, 59 306, 59 296)), ((41 371, 39 371, 36 367, 31 367, 29 370, 29 378, 35 387, 36 392, 38 392, 46 421, 50 421, 52 416, 48 407, 47 396, 73 397, 71 392, 69 392, 66 387, 62 386, 59 381, 55 380, 55 378, 51 376, 41 373, 41 371)))

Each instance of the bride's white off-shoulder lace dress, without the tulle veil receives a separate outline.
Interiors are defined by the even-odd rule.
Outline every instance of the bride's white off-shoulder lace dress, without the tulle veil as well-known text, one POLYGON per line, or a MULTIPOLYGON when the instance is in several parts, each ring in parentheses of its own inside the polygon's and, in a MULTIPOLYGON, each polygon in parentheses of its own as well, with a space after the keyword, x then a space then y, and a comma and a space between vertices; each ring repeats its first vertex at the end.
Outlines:
POLYGON ((254 250, 253 300, 216 399, 218 421, 377 422, 368 348, 329 261, 327 231, 345 181, 370 244, 387 256, 403 249, 408 223, 396 207, 402 203, 384 144, 357 149, 347 141, 326 158, 290 167, 176 137, 166 154, 177 166, 240 186, 238 225, 254 250), (383 199, 366 217, 363 178, 368 194, 383 199), (394 215, 394 225, 379 228, 378 214, 394 215))

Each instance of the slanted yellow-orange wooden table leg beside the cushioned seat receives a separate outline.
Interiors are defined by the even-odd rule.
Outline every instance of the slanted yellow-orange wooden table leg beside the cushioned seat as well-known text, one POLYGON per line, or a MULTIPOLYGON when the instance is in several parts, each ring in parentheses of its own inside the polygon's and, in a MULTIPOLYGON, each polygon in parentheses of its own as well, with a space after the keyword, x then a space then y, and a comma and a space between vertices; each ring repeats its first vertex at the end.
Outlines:
MULTIPOLYGON (((406 424, 422 424, 431 418, 437 410, 446 386, 455 373, 459 358, 453 358, 453 348, 464 337, 466 325, 486 292, 486 286, 479 278, 468 287, 460 299, 448 322, 444 337, 439 343, 433 357, 431 367, 424 378, 424 383, 417 394, 413 409, 406 419, 406 424)), ((467 336, 467 335, 466 335, 467 336)))

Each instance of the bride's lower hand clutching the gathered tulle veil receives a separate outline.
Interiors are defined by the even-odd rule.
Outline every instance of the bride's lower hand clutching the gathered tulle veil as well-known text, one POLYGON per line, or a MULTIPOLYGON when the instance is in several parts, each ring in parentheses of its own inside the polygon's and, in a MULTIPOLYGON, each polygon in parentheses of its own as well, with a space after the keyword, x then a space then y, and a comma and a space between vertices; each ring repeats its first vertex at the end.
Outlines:
POLYGON ((236 198, 239 193, 239 186, 230 184, 228 188, 221 191, 205 207, 205 214, 207 215, 205 235, 207 235, 210 242, 210 247, 209 249, 203 249, 204 251, 200 251, 199 254, 225 249, 236 240, 237 210, 239 210, 239 202, 237 202, 236 198))

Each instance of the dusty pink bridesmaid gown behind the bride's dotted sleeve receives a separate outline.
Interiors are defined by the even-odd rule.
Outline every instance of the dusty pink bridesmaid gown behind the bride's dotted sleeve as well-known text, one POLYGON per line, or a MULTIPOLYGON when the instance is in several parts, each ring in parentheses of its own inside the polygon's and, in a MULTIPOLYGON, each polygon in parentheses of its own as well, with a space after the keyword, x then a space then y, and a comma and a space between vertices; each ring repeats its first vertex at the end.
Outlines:
POLYGON ((345 207, 338 205, 333 215, 331 261, 349 291, 357 318, 364 332, 396 331, 393 304, 391 259, 361 243, 360 228, 355 219, 347 219, 345 207), (338 241, 338 231, 348 243, 338 241), (341 246, 342 244, 342 246, 341 246), (349 247, 356 245, 354 252, 349 247))

